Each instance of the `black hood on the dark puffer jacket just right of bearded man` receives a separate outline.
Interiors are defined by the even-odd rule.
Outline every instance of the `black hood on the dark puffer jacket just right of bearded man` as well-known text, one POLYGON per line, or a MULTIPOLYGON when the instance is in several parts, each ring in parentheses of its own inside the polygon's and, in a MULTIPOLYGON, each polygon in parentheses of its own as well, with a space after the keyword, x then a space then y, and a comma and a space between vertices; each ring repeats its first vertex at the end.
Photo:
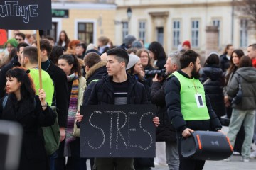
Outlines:
POLYGON ((213 81, 220 79, 220 77, 222 77, 223 74, 222 69, 220 69, 220 67, 216 65, 203 67, 201 73, 202 72, 206 75, 206 77, 209 77, 213 81))

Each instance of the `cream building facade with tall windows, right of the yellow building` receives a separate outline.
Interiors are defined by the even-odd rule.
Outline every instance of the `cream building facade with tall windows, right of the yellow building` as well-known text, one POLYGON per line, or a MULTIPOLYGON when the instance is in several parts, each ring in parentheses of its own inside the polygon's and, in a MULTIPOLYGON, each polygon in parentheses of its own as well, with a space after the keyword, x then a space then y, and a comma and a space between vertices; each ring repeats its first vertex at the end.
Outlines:
POLYGON ((173 52, 184 40, 193 50, 206 51, 207 26, 216 26, 218 51, 227 44, 245 50, 255 42, 247 17, 235 11, 232 0, 116 0, 115 41, 132 34, 145 44, 159 41, 166 52, 173 52), (132 16, 127 18, 127 8, 132 16))

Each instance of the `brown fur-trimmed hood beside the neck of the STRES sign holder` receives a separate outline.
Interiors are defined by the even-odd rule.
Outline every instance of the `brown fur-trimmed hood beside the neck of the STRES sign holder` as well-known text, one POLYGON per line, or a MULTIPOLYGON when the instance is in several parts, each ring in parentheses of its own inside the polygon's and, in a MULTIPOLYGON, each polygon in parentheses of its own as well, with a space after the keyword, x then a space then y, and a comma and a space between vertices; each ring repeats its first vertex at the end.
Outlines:
POLYGON ((90 68, 89 72, 85 75, 87 85, 94 79, 102 79, 103 75, 107 73, 106 64, 107 62, 98 62, 90 68))

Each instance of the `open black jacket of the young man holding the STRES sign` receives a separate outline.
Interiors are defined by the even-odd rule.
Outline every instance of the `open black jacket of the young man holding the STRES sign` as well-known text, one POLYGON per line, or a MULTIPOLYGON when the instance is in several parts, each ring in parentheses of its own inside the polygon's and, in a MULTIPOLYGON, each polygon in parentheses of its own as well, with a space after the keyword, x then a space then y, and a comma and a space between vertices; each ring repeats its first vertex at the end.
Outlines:
MULTIPOLYGON (((127 74, 129 89, 127 94, 127 104, 147 104, 147 96, 144 86, 135 79, 134 76, 127 74)), ((103 79, 97 81, 90 95, 88 105, 114 104, 114 89, 112 77, 105 75, 103 79)))

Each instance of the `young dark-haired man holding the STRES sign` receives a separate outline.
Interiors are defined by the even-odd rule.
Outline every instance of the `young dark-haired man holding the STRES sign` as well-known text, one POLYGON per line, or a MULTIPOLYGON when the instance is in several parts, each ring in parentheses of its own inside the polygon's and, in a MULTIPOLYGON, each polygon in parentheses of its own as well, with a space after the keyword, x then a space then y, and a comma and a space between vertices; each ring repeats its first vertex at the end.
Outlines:
MULTIPOLYGON (((148 103, 144 86, 126 72, 128 62, 129 56, 125 50, 114 48, 107 51, 108 75, 97 81, 88 105, 148 103)), ((82 120, 80 113, 76 115, 76 120, 82 120)), ((159 125, 159 118, 155 117, 153 122, 156 126, 159 125)), ((133 158, 96 158, 93 169, 131 170, 134 169, 133 158)))

